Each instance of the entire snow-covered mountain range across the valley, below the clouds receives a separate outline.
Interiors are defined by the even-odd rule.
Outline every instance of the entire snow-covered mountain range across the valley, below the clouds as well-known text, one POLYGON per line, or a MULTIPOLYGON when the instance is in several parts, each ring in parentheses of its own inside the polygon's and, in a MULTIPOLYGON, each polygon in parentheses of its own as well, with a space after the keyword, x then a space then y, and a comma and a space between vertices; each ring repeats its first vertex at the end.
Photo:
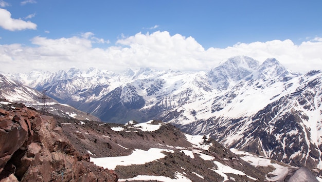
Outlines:
POLYGON ((321 71, 297 74, 274 58, 260 64, 237 56, 208 72, 70 69, 10 76, 106 122, 162 119, 229 148, 322 169, 321 71))

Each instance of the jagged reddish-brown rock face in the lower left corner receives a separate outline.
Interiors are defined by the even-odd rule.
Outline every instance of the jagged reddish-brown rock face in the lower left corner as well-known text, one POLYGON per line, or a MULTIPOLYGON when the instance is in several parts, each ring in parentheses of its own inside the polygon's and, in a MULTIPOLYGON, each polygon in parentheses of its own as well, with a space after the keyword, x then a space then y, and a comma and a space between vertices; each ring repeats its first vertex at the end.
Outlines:
POLYGON ((0 108, 0 181, 117 181, 77 152, 51 116, 12 108, 0 108))

